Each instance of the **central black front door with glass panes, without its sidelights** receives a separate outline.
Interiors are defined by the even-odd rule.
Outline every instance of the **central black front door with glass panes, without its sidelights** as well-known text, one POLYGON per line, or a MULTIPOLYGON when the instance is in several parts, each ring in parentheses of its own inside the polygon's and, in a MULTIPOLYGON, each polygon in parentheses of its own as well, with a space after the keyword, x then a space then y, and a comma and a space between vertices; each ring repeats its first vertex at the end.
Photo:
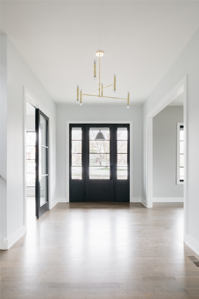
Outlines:
POLYGON ((85 201, 114 201, 114 124, 85 125, 85 201))

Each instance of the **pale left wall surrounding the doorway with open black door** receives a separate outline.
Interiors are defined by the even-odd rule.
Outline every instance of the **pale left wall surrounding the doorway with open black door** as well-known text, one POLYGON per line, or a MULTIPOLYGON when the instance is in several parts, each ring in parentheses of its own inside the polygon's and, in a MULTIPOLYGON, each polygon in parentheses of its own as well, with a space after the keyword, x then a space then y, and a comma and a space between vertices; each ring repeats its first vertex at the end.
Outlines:
POLYGON ((1 84, 5 86, 1 98, 1 104, 4 105, 3 113, 5 115, 1 121, 3 121, 4 128, 5 119, 7 118, 7 133, 4 133, 1 140, 3 146, 1 161, 4 163, 3 175, 1 173, 1 183, 3 186, 3 188, 1 187, 3 191, 3 198, 1 195, 1 243, 2 249, 8 249, 26 232, 24 197, 24 86, 51 113, 51 201, 57 198, 57 105, 6 35, 1 36, 1 50, 1 62, 4 64, 3 69, 1 65, 1 84), (7 195, 4 191, 7 192, 7 195))

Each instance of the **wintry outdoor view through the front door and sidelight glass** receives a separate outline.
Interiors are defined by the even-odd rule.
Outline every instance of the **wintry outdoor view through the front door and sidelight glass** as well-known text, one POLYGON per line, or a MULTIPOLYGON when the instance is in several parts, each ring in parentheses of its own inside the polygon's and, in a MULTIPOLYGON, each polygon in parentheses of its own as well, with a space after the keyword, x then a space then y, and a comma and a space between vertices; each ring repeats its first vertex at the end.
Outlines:
MULTIPOLYGON (((110 131, 109 128, 90 128, 90 179, 109 179, 110 176, 110 131), (101 131, 105 140, 95 140, 101 131)), ((117 178, 127 179, 127 128, 117 131, 117 178)), ((82 173, 82 132, 72 128, 72 179, 81 179, 82 173)))

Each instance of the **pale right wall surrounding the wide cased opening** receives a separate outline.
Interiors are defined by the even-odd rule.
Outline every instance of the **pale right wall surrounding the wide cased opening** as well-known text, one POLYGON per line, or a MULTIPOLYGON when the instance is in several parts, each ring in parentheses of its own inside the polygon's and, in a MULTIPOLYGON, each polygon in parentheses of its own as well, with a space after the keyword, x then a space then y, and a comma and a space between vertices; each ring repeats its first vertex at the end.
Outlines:
POLYGON ((143 176, 142 197, 146 200, 146 116, 187 75, 187 200, 185 243, 199 254, 199 29, 142 105, 143 176))

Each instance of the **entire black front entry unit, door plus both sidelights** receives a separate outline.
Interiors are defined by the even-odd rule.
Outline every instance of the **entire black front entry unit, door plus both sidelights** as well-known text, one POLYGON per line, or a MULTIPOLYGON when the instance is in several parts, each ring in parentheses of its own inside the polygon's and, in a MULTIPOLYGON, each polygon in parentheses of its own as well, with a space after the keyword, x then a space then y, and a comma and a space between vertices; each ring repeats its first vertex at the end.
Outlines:
POLYGON ((129 124, 70 124, 70 201, 129 195, 129 124))

